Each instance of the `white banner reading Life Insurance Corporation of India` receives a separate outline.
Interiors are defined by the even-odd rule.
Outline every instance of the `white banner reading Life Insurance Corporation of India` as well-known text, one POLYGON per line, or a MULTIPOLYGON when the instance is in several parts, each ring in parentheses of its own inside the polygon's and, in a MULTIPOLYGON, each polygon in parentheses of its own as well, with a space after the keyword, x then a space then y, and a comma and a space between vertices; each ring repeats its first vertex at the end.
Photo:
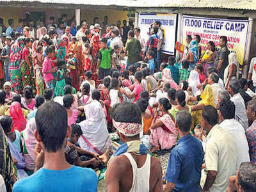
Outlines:
POLYGON ((150 24, 155 21, 161 22, 160 28, 164 33, 162 52, 173 55, 176 42, 177 14, 140 13, 138 17, 138 27, 141 29, 140 35, 145 41, 149 38, 150 24))

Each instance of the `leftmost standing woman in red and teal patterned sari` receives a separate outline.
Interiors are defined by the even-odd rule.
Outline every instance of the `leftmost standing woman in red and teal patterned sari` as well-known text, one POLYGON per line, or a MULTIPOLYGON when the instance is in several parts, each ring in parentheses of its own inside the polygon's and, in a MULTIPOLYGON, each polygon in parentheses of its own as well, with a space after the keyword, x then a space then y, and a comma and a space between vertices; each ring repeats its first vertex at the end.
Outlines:
POLYGON ((20 90, 20 86, 21 86, 20 66, 21 66, 23 47, 24 47, 24 42, 21 36, 17 38, 15 44, 13 44, 11 47, 9 70, 10 70, 12 90, 15 93, 20 93, 21 91, 20 90))

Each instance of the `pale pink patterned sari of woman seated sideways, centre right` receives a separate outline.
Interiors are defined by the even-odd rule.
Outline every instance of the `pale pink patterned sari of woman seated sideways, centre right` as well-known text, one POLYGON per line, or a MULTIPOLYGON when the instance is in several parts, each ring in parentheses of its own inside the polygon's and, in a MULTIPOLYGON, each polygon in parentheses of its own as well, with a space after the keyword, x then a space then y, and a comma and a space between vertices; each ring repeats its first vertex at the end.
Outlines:
POLYGON ((165 114, 159 119, 164 125, 162 127, 157 127, 156 129, 150 129, 150 143, 161 149, 170 149, 176 143, 178 130, 176 129, 175 122, 170 115, 165 114), (168 129, 168 131, 166 131, 166 129, 168 129))

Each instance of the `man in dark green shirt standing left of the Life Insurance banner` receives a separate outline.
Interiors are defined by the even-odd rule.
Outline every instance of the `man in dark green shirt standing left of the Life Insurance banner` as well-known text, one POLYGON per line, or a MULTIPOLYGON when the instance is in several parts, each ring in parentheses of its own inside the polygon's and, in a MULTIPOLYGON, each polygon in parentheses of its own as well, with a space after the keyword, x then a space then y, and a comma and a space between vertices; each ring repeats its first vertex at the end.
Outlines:
POLYGON ((127 51, 127 63, 126 63, 126 69, 130 65, 135 65, 136 68, 138 67, 140 60, 140 51, 141 51, 141 45, 140 41, 134 38, 134 31, 130 30, 128 32, 128 40, 125 46, 125 51, 127 51))

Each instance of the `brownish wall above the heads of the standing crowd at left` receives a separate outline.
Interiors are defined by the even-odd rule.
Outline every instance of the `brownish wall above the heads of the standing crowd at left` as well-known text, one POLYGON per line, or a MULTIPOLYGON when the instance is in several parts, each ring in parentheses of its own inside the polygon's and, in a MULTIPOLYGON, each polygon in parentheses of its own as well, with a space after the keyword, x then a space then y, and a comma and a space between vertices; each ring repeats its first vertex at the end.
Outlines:
MULTIPOLYGON (((55 20, 61 17, 63 13, 67 14, 67 19, 72 19, 75 16, 75 10, 67 9, 40 9, 40 8, 3 8, 0 7, 0 17, 4 20, 6 28, 8 25, 8 19, 14 19, 15 28, 18 26, 19 18, 25 18, 26 12, 45 12, 46 22, 49 22, 49 17, 54 16, 55 20)), ((105 15, 108 15, 108 23, 116 24, 117 20, 128 19, 127 12, 116 10, 81 10, 81 20, 86 19, 88 23, 93 21, 94 17, 99 17, 99 22, 103 21, 105 15)), ((75 17, 74 17, 75 18, 75 17)))

